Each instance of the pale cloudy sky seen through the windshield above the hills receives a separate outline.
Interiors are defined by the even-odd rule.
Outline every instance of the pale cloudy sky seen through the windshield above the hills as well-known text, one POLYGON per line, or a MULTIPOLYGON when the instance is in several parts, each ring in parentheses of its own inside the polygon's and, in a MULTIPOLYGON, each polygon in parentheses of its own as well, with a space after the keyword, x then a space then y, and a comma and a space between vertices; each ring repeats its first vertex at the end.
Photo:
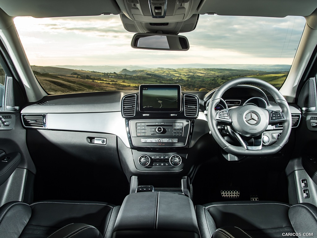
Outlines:
POLYGON ((119 15, 14 23, 31 65, 292 64, 305 19, 201 15, 188 51, 133 49, 119 15))

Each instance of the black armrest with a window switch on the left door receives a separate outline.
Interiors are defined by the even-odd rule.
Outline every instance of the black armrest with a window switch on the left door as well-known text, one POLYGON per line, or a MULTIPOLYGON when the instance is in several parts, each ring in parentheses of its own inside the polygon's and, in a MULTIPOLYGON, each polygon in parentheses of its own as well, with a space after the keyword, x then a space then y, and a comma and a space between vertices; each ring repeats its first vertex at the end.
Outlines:
POLYGON ((20 162, 20 153, 10 153, 0 157, 0 185, 7 181, 20 162))

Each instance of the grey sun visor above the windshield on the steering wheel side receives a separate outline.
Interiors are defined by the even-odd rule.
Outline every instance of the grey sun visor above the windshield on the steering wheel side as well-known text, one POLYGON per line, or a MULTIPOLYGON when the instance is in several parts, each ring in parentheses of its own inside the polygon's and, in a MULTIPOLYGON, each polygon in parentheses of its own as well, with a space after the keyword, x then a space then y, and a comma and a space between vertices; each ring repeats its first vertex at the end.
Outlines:
POLYGON ((316 8, 316 0, 202 0, 197 12, 224 16, 286 17, 308 16, 316 8))

